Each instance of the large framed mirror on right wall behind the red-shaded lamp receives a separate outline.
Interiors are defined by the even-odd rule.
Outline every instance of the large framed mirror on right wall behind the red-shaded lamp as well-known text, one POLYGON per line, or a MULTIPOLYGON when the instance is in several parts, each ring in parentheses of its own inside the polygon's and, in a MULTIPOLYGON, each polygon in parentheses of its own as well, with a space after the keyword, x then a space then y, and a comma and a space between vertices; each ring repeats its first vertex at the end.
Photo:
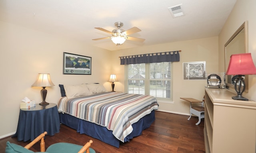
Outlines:
MULTIPOLYGON (((244 22, 236 32, 228 39, 227 43, 225 44, 225 72, 228 69, 228 64, 230 61, 230 56, 233 54, 240 54, 240 53, 248 53, 248 29, 247 29, 247 21, 244 22)), ((226 75, 225 81, 227 88, 234 88, 234 78, 236 76, 233 75, 226 75)), ((245 92, 248 92, 248 76, 244 76, 244 81, 246 84, 245 92)))

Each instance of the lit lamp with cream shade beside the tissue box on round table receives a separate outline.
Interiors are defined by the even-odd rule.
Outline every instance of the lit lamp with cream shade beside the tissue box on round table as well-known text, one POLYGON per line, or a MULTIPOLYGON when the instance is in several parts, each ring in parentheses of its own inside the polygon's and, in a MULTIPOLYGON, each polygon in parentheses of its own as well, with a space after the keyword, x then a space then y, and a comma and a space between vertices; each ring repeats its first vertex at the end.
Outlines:
POLYGON ((36 82, 34 82, 34 84, 32 84, 32 86, 41 86, 42 87, 41 94, 42 94, 43 101, 40 103, 40 105, 48 105, 49 103, 45 101, 46 94, 47 94, 47 90, 45 88, 46 88, 46 86, 55 86, 52 83, 50 74, 39 73, 38 77, 36 79, 36 82))

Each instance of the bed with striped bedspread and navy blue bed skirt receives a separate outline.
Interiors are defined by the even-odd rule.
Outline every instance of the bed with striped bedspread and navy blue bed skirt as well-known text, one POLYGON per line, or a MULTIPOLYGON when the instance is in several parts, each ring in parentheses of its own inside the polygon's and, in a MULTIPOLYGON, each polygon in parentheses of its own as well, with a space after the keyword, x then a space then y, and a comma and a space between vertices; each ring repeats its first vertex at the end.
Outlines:
POLYGON ((156 98, 148 95, 100 91, 62 96, 58 101, 60 123, 115 147, 149 128, 158 109, 156 98))

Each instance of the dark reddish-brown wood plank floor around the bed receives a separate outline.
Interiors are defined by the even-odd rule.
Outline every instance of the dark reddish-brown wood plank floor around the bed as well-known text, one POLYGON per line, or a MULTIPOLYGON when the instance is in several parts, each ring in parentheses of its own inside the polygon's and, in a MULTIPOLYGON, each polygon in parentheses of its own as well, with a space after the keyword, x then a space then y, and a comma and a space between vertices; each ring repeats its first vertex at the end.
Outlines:
MULTIPOLYGON (((128 143, 120 144, 120 148, 113 147, 65 125, 60 126, 60 133, 54 136, 46 135, 46 148, 53 143, 68 142, 84 145, 92 139, 92 148, 96 153, 205 153, 204 148, 204 120, 196 126, 198 118, 156 111, 156 121, 145 129, 142 135, 133 138, 128 143)), ((8 137, 0 140, 0 153, 4 153, 6 141, 25 146, 30 141, 17 141, 8 137)), ((30 150, 40 151, 40 144, 36 143, 30 150)))

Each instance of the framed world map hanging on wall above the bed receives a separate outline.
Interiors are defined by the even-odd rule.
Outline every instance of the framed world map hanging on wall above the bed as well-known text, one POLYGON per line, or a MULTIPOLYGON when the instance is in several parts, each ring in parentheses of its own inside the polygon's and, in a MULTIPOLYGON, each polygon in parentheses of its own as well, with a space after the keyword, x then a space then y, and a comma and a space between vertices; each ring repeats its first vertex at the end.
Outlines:
POLYGON ((63 74, 92 75, 92 57, 63 52, 63 74))

